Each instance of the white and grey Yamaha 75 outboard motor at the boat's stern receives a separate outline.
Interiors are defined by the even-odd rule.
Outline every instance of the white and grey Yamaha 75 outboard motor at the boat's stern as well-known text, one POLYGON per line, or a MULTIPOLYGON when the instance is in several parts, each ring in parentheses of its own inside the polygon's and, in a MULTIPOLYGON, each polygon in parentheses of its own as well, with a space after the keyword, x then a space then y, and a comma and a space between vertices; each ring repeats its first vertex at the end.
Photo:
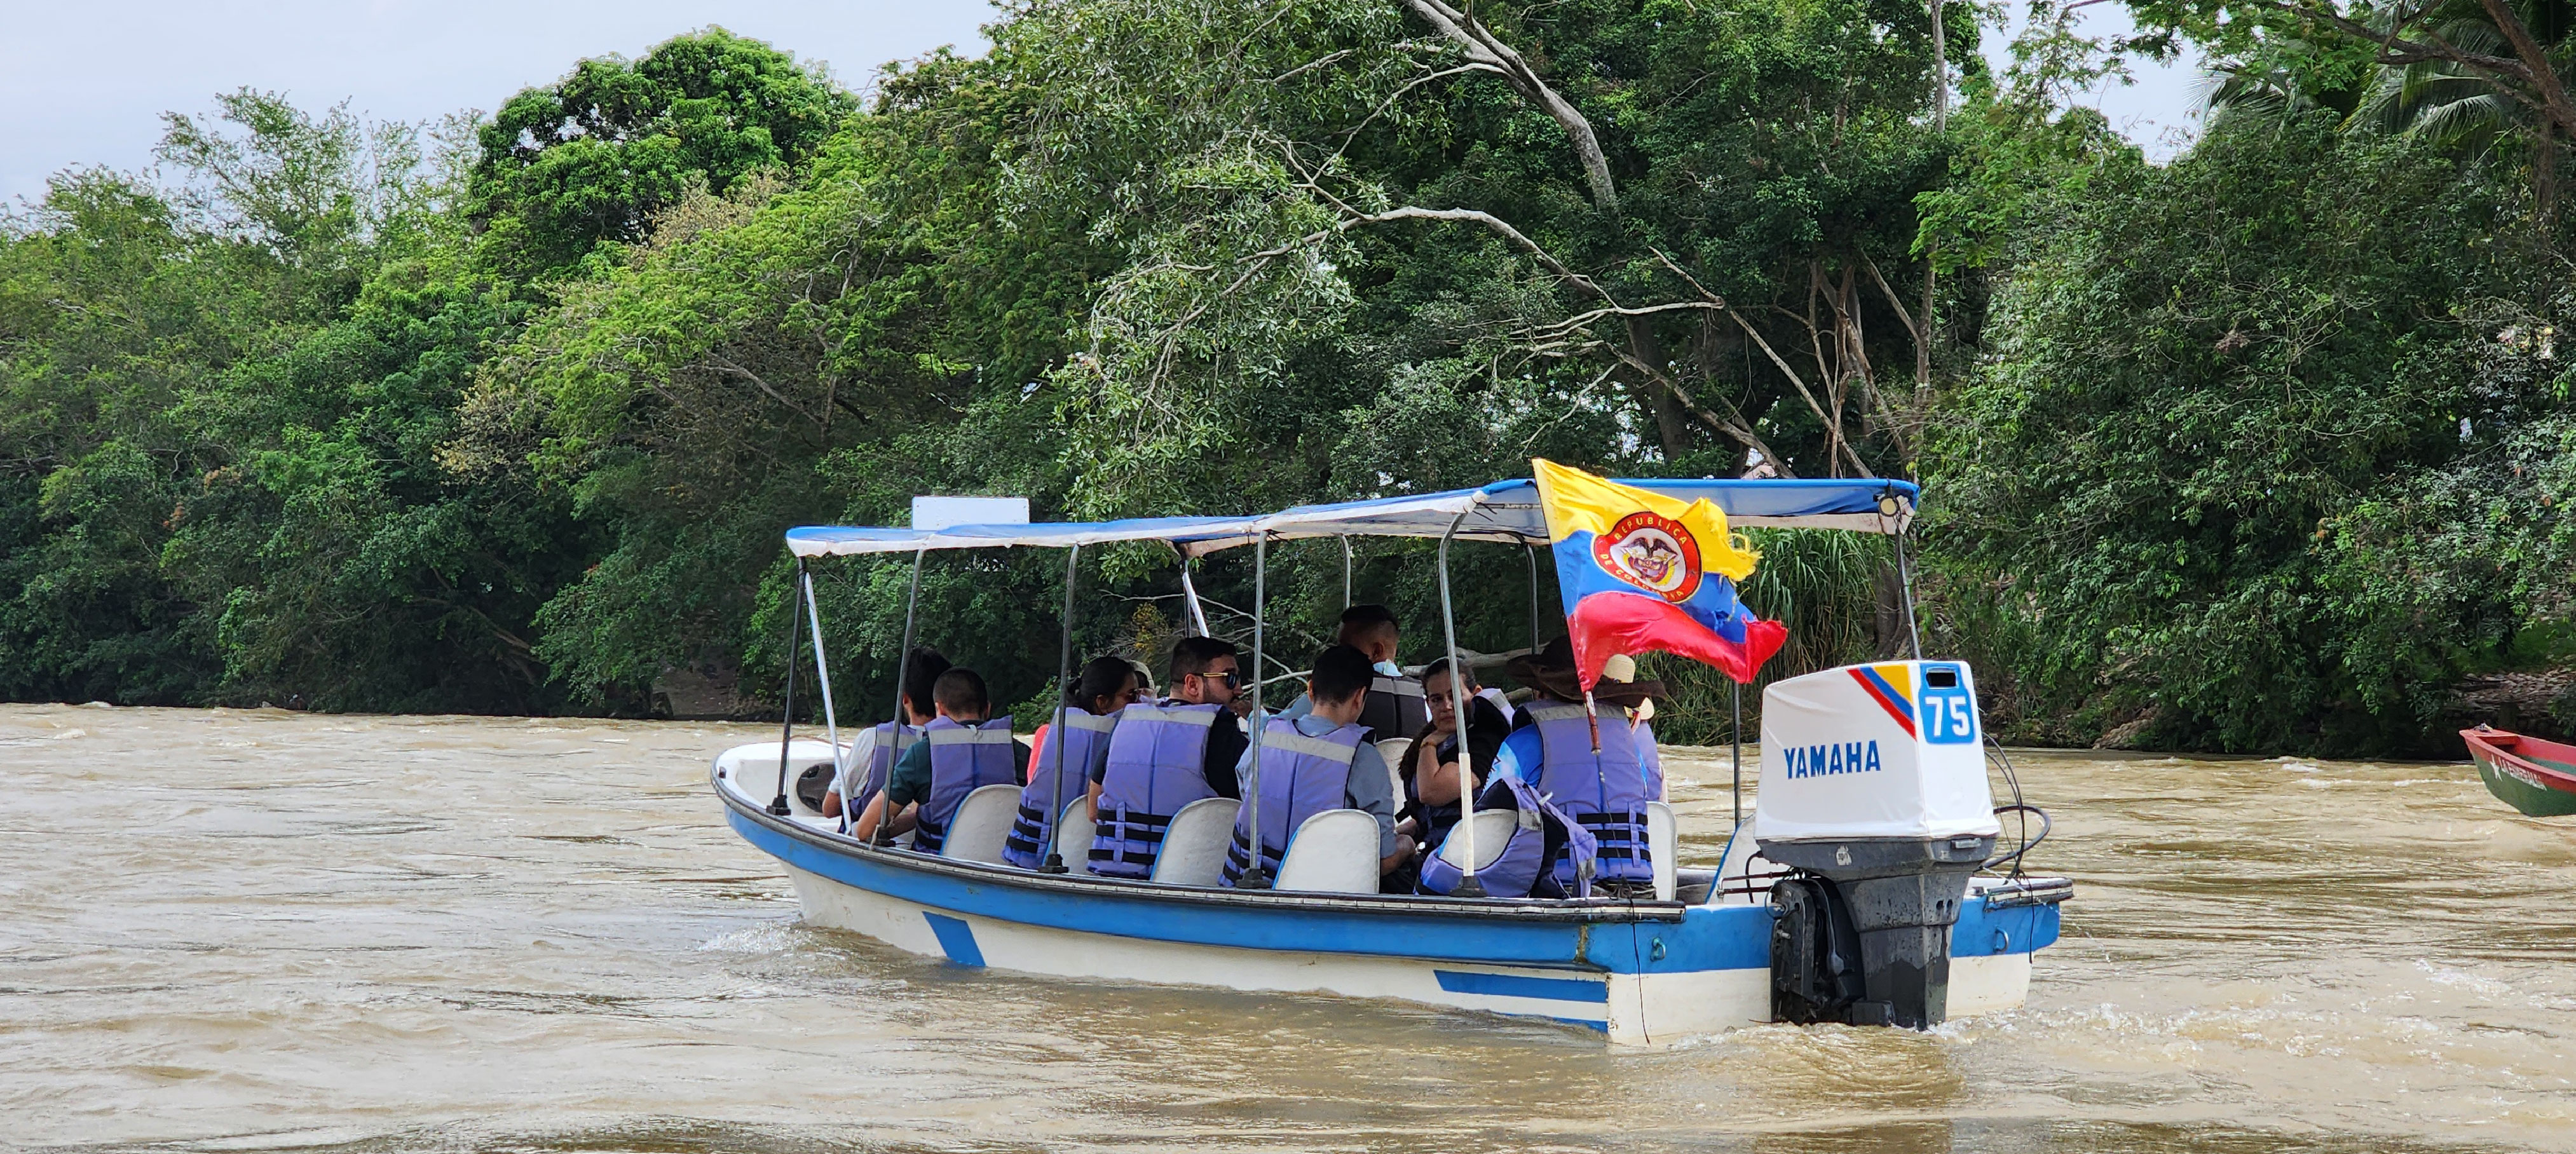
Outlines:
POLYGON ((2002 824, 1965 662, 1847 665, 1762 693, 1754 842, 1772 886, 1772 1015, 1940 1025, 1950 927, 2002 824))

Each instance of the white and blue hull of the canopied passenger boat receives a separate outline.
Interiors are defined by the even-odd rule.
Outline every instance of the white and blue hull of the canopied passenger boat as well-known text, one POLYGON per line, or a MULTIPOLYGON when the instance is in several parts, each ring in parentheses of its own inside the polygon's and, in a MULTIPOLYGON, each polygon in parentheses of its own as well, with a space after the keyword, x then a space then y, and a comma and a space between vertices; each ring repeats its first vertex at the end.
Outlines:
MULTIPOLYGON (((1628 1046, 1772 1020, 1772 912, 1741 891, 1698 904, 1463 902, 1046 876, 871 847, 773 817, 721 775, 716 793, 734 832, 786 866, 809 925, 958 966, 1386 997, 1571 1023, 1628 1046)), ((2022 1005, 2032 953, 2058 938, 2063 889, 1965 899, 1950 1017, 2022 1005)))

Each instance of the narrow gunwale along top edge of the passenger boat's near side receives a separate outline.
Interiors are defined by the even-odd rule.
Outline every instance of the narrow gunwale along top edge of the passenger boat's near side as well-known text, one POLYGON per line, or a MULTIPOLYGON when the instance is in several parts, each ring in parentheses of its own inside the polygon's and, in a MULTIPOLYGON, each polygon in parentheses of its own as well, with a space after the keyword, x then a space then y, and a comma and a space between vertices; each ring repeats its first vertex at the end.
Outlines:
POLYGON ((744 819, 814 845, 827 853, 840 853, 848 858, 863 858, 881 866, 896 866, 917 873, 935 873, 961 881, 997 881, 1012 889, 1066 894, 1066 896, 1121 896, 1144 902, 1170 902, 1182 907, 1242 907, 1242 909, 1306 909, 1306 912, 1332 912, 1332 914, 1373 914, 1373 917, 1510 917, 1515 922, 1566 922, 1566 925, 1597 925, 1597 922, 1682 922, 1692 909, 1682 902, 1638 902, 1638 899, 1455 899, 1432 894, 1296 894, 1296 891, 1236 891, 1213 886, 1172 886, 1162 881, 1133 881, 1133 878, 1103 878, 1092 873, 1036 873, 1018 866, 935 858, 927 853, 868 845, 858 837, 848 837, 829 829, 814 829, 801 822, 788 822, 770 814, 765 806, 744 801, 724 786, 724 778, 708 775, 716 799, 726 809, 742 814, 744 819))

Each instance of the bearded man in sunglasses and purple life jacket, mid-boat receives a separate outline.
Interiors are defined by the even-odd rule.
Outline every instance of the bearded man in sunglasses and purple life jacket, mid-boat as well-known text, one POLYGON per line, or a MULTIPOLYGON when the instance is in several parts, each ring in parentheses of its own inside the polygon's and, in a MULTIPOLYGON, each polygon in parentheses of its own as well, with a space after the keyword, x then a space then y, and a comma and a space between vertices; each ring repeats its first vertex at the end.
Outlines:
POLYGON ((1242 690, 1234 644, 1185 636, 1172 647, 1172 695, 1118 714, 1108 757, 1092 770, 1092 873, 1154 873, 1172 814, 1198 799, 1242 796, 1234 762, 1244 752, 1242 721, 1226 708, 1242 690))

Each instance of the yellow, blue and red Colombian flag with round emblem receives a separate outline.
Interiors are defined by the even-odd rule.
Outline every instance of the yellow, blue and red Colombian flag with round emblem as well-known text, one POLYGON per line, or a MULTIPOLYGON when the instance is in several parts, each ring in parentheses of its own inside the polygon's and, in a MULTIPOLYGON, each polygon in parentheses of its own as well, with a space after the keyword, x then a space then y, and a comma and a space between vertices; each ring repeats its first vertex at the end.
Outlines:
POLYGON ((1613 654, 1649 649, 1749 683, 1788 641, 1785 626, 1736 600, 1736 580, 1754 572, 1759 554, 1726 531, 1726 513, 1705 497, 1685 505, 1553 461, 1530 469, 1584 690, 1613 654))

